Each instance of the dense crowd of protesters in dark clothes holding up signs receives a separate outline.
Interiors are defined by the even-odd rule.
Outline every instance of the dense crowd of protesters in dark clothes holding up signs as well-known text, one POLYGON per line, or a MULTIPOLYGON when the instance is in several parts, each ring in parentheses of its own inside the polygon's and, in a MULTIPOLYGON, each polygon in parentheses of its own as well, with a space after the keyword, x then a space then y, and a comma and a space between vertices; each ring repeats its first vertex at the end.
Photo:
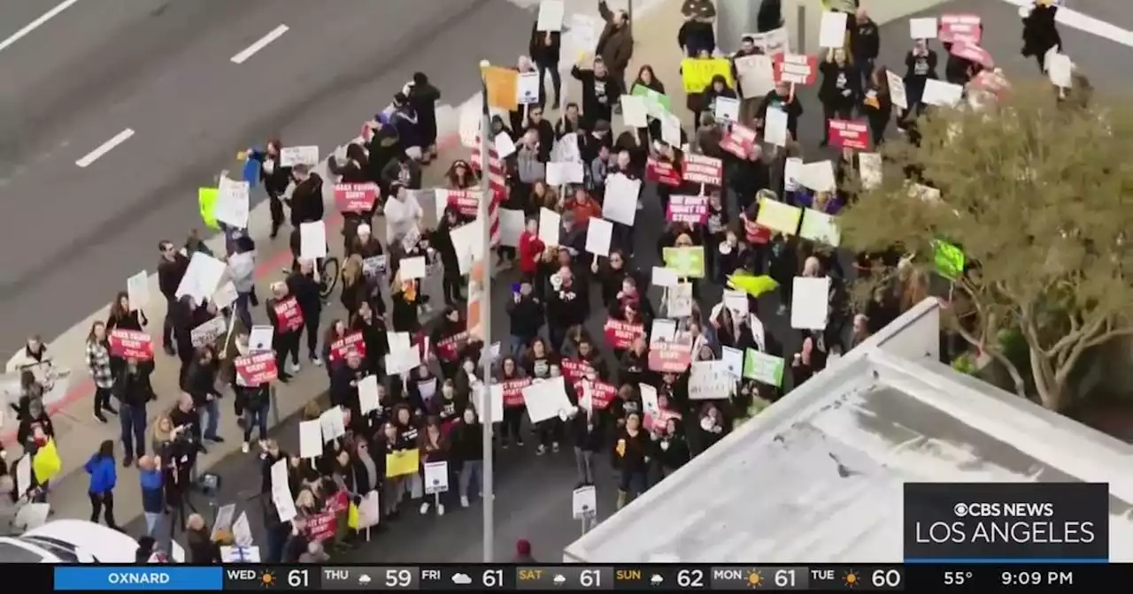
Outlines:
MULTIPOLYGON (((503 399, 502 419, 493 419, 495 447, 526 447, 530 440, 537 455, 573 450, 577 487, 595 484, 598 468, 608 460, 617 475, 620 508, 724 438, 758 403, 775 402, 799 387, 832 358, 914 303, 911 295, 923 294, 925 279, 901 265, 900 252, 847 258, 834 246, 800 238, 796 230, 759 224, 761 205, 770 200, 837 215, 854 200, 861 165, 854 149, 838 152, 833 189, 808 189, 784 173, 786 161, 804 153, 796 138, 804 113, 817 114, 820 107, 826 122, 863 119, 876 147, 889 134, 891 122, 915 138, 917 117, 932 109, 920 101, 926 80, 944 79, 976 95, 986 91, 977 85, 985 78, 981 75, 1002 72, 990 63, 956 55, 949 43, 940 45, 942 58, 934 48, 937 42, 917 40, 898 72, 908 106, 895 106, 887 72, 896 66, 879 63, 878 27, 859 9, 849 17, 846 48, 824 50, 819 57, 820 105, 804 110, 793 86, 783 81, 765 96, 744 96, 739 85, 730 83, 738 78, 733 70, 730 78, 716 76, 702 91, 689 93, 685 106, 695 127, 678 130, 676 137, 663 130, 665 114, 656 113, 649 114, 644 127, 616 130, 614 117, 623 111, 622 95, 637 95, 640 87, 665 96, 666 86, 681 81, 663 81, 649 66, 627 72, 633 54, 627 15, 610 10, 604 2, 599 6, 606 25, 597 46, 590 59, 570 69, 561 68, 560 33, 533 26, 529 57, 519 59, 517 70, 537 71, 540 80, 550 72, 551 96, 544 88, 537 103, 492 118, 491 136, 506 134, 517 147, 503 160, 506 191, 499 206, 522 213, 526 221, 518 241, 497 250, 499 265, 514 261, 518 267, 505 307, 509 335, 496 337, 502 343, 499 352, 471 335, 467 324, 468 276, 452 232, 470 223, 472 213, 450 204, 435 229, 423 223, 417 192, 423 189, 423 167, 445 167, 446 190, 475 190, 483 172, 472 158, 432 163, 437 157, 440 92, 428 77, 417 74, 389 109, 365 124, 361 138, 344 155, 327 158, 333 180, 324 181, 308 165, 284 166, 286 145, 280 140, 248 152, 248 158, 259 163, 258 182, 271 203, 272 235, 290 226, 296 256, 286 278, 271 285, 263 312, 255 310, 259 303, 253 283, 255 243, 241 230, 225 229, 227 253, 219 255, 228 262, 237 293, 228 303, 178 298, 190 258, 207 248, 195 234, 184 246, 161 242, 157 276, 168 305, 162 347, 167 355, 178 358, 182 390, 172 410, 147 424, 147 406, 156 399, 150 378, 156 364, 167 363, 155 361, 152 352, 150 358, 121 356, 111 348, 110 333, 144 332, 151 322, 130 307, 128 295, 118 295, 109 318, 92 325, 86 362, 95 385, 93 413, 100 422, 109 422, 108 415, 118 417, 118 459, 122 466, 137 464, 140 477, 136 487, 120 484, 116 444, 103 442, 86 464, 92 520, 103 517, 117 527, 114 490, 137 488, 147 528, 144 548, 157 545, 153 539, 161 541, 164 533, 179 528, 187 534, 190 561, 220 560, 218 539, 195 514, 189 492, 197 456, 224 440, 218 420, 225 414, 221 401, 229 401, 240 419, 242 436, 237 439, 242 450, 262 458, 263 560, 322 561, 327 551, 352 546, 363 524, 395 520, 407 506, 438 515, 446 505, 470 506, 483 484, 478 406, 487 405, 494 391, 503 399), (561 71, 581 83, 577 100, 561 102, 561 71), (717 103, 724 100, 740 102, 738 121, 717 117, 717 103), (761 141, 769 110, 786 114, 785 146, 761 141), (753 131, 755 138, 736 140, 738 129, 753 131), (690 157, 718 163, 717 181, 689 174, 690 157), (581 182, 550 183, 548 165, 563 162, 581 164, 581 182), (607 199, 625 199, 607 193, 615 177, 620 184, 624 181, 620 178, 640 182, 639 196, 631 197, 638 218, 633 224, 615 224, 608 252, 598 257, 589 252, 588 230, 603 217, 607 199), (324 316, 318 262, 300 258, 300 226, 324 218, 322 184, 327 182, 376 188, 367 207, 344 213, 338 296, 344 313, 334 319, 324 316), (665 213, 674 197, 702 197, 704 214, 691 222, 682 217, 646 221, 644 213, 655 210, 646 210, 642 200, 654 196, 665 213), (544 210, 557 215, 561 229, 540 229, 544 210), (384 242, 374 233, 380 218, 385 224, 384 242), (664 226, 656 246, 634 241, 634 229, 646 225, 664 226), (699 253, 701 270, 682 273, 675 285, 666 283, 658 305, 648 295, 650 285, 662 284, 658 273, 639 262, 664 261, 672 249, 699 253), (402 274, 402 265, 418 257, 442 278, 444 303, 438 308, 443 311, 435 324, 423 322, 433 308, 423 278, 402 274), (858 275, 887 274, 878 267, 893 272, 893 282, 867 307, 854 309, 847 284, 858 275), (765 278, 767 289, 733 285, 729 292, 738 291, 740 299, 709 300, 709 295, 716 300, 721 289, 738 276, 765 278), (776 335, 764 321, 787 313, 796 277, 829 279, 827 321, 823 328, 776 335), (685 285, 695 299, 681 305, 674 294, 685 285), (764 294, 773 296, 757 299, 764 294), (204 341, 194 333, 218 318, 225 320, 222 326, 228 332, 204 341), (604 322, 602 334, 588 328, 595 318, 604 322), (254 373, 245 367, 261 348, 253 344, 252 330, 265 322, 273 328, 269 352, 274 353, 259 364, 271 371, 254 373), (307 361, 324 368, 330 386, 330 402, 309 404, 304 419, 320 421, 338 410, 343 431, 324 432, 322 451, 300 456, 269 438, 267 415, 272 384, 287 382, 299 371, 304 345, 307 361), (495 358, 491 377, 484 377, 480 363, 488 348, 495 358), (407 350, 414 353, 412 363, 402 365, 407 350), (654 356, 655 351, 665 356, 654 356), (718 393, 698 391, 690 397, 693 370, 722 361, 725 351, 777 358, 783 362, 782 377, 752 376, 746 362, 718 393), (391 369, 394 364, 397 369, 391 369), (528 422, 525 389, 556 380, 562 381, 571 407, 559 416, 528 422), (361 396, 372 381, 376 403, 361 396), (415 453, 412 459, 419 460, 411 472, 403 472, 398 463, 406 453, 415 453), (425 467, 442 462, 455 489, 428 493, 425 467), (398 468, 392 467, 395 463, 398 468), (381 493, 380 518, 367 523, 359 516, 373 514, 364 511, 372 492, 381 493), (290 505, 281 505, 280 498, 290 505)), ((1060 44, 1055 10, 1040 1, 1024 20, 1024 53, 1036 57, 1040 67, 1047 50, 1060 44)), ((676 35, 688 58, 718 55, 710 0, 688 0, 682 11, 684 26, 665 33, 676 35)), ((773 14, 761 12, 759 21, 759 33, 782 26, 773 14)), ((763 53, 753 37, 741 42, 732 60, 763 53)), ((824 137, 821 146, 829 140, 824 137)), ((35 456, 53 436, 43 405, 50 375, 36 371, 50 358, 46 346, 33 338, 9 364, 9 372, 23 373, 22 396, 14 408, 18 441, 28 456, 35 456)), ((8 474, 9 468, 0 462, 0 473, 8 474)), ((33 473, 32 482, 17 484, 12 499, 46 498, 49 481, 41 482, 33 473)), ((529 558, 529 543, 521 542, 518 550, 529 558)))

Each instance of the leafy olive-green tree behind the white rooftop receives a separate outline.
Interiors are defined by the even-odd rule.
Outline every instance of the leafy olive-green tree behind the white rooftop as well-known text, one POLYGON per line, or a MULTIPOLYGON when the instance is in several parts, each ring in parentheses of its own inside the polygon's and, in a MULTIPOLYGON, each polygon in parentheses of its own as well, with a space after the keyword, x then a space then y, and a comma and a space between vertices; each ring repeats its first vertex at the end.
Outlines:
POLYGON ((840 217, 843 244, 896 247, 937 277, 952 276, 935 261, 940 248, 962 249, 963 272, 948 279, 953 329, 1025 397, 996 339, 1021 333, 1036 396, 1066 411, 1083 354, 1133 334, 1133 105, 1083 106, 1016 85, 997 105, 937 109, 915 128, 919 146, 884 145, 880 184, 860 188, 840 217))

